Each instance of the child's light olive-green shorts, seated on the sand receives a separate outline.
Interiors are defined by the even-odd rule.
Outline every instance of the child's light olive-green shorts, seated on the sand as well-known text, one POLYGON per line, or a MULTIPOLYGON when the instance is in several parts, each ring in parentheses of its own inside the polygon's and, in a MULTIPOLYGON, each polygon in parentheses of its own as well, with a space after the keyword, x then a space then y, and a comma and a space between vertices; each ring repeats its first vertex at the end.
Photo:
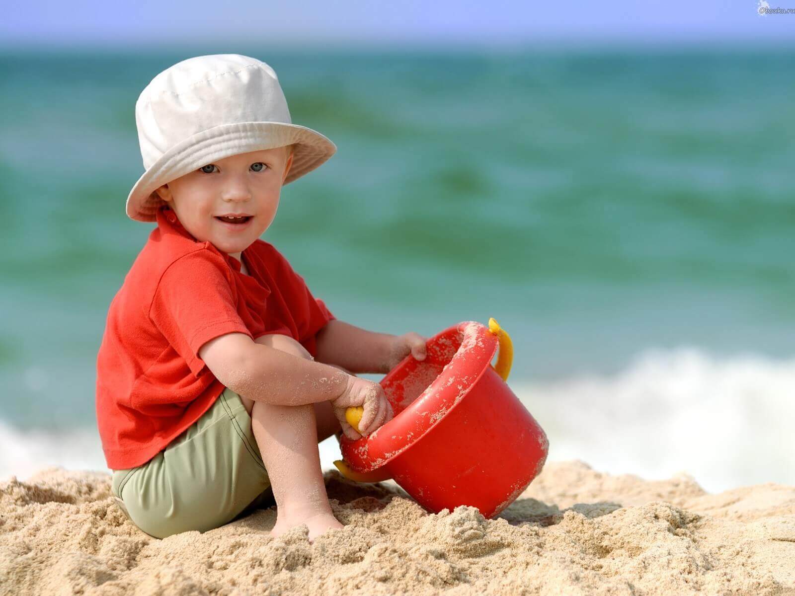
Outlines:
POLYGON ((228 387, 165 451, 141 466, 114 470, 111 492, 155 538, 204 532, 275 505, 251 416, 228 387))

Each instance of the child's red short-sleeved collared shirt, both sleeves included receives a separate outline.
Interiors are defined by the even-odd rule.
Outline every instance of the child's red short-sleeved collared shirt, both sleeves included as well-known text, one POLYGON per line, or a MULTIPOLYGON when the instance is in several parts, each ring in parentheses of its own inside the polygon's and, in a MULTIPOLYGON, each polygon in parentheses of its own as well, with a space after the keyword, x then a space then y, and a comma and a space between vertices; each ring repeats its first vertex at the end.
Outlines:
POLYGON ((240 261, 197 242, 167 205, 107 313, 96 412, 108 467, 148 462, 215 403, 224 386, 199 358, 211 339, 280 333, 316 355, 335 316, 269 242, 240 261))

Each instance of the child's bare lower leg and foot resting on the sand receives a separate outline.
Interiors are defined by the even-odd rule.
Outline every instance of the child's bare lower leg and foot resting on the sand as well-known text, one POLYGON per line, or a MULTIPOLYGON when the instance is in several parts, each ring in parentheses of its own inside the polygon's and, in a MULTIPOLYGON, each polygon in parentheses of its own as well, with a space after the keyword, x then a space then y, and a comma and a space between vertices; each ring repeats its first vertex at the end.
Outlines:
POLYGON ((315 424, 312 404, 254 402, 251 428, 277 505, 271 536, 279 536, 300 524, 307 524, 309 540, 329 529, 343 528, 328 503, 315 424))

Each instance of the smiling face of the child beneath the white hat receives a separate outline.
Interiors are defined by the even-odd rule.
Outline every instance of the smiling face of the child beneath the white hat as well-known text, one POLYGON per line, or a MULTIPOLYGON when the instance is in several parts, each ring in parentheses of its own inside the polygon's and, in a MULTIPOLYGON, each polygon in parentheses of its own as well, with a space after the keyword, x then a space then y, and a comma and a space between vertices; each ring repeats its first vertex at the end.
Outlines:
POLYGON ((291 164, 293 154, 286 147, 238 153, 164 184, 157 195, 196 240, 239 259, 276 217, 291 164), (244 224, 218 219, 231 213, 253 217, 244 224))

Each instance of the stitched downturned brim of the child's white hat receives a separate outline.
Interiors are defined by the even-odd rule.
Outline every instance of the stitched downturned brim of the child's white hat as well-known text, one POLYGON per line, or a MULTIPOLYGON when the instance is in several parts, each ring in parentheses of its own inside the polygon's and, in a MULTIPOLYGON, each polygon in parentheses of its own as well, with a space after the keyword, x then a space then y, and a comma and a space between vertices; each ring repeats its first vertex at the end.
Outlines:
POLYGON ((127 196, 127 215, 138 222, 156 221, 157 208, 164 202, 153 192, 163 184, 224 157, 284 145, 295 145, 284 184, 311 172, 337 150, 324 135, 297 124, 235 122, 213 126, 174 145, 143 173, 127 196))

